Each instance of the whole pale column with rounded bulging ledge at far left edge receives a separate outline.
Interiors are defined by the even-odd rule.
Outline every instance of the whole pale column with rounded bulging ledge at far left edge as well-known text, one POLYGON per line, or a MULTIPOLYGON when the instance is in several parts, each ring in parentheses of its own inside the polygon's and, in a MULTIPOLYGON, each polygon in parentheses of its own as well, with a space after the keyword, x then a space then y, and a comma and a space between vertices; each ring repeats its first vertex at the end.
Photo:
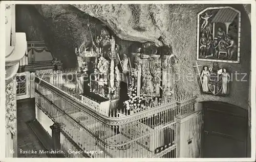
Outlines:
POLYGON ((17 157, 16 73, 27 49, 25 33, 15 33, 15 5, 6 5, 6 157, 17 157))

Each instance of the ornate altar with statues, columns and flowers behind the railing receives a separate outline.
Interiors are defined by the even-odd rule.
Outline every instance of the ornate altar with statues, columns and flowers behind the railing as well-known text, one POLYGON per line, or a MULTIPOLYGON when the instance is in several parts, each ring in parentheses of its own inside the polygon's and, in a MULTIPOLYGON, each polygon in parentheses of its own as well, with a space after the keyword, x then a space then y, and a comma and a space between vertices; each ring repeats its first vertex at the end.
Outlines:
MULTIPOLYGON (((88 30, 90 31, 90 25, 88 30)), ((106 104, 106 101, 114 100, 118 103, 111 107, 110 103, 105 105, 105 108, 102 107, 104 111, 97 109, 104 115, 109 115, 110 109, 114 112, 124 112, 124 115, 132 115, 174 96, 172 73, 176 56, 171 52, 168 51, 164 55, 157 54, 156 51, 150 53, 144 45, 140 53, 119 53, 120 46, 116 43, 115 36, 110 35, 105 28, 102 28, 100 35, 95 36, 95 39, 92 35, 91 38, 89 43, 84 39, 75 50, 81 75, 79 89, 83 92, 82 96, 99 103, 106 104), (84 76, 87 76, 87 80, 82 81, 84 76), (119 103, 121 82, 126 84, 125 96, 128 98, 123 103, 119 103), (117 105, 119 107, 115 107, 117 105)))

